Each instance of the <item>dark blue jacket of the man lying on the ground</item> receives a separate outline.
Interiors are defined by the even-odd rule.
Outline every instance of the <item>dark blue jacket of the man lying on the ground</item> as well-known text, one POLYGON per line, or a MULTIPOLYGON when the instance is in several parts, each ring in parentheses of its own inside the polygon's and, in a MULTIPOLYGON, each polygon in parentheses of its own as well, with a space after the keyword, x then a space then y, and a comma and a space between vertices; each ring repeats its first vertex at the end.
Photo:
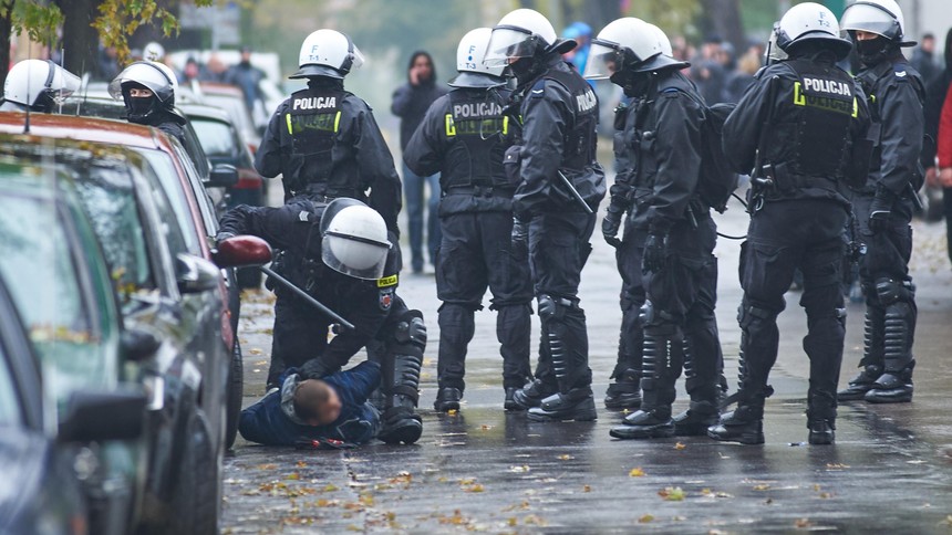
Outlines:
POLYGON ((241 411, 238 431, 251 442, 294 445, 301 439, 335 439, 362 444, 380 430, 380 412, 369 401, 380 386, 380 365, 370 360, 322 378, 338 392, 341 415, 328 426, 308 426, 294 415, 294 389, 301 378, 296 368, 281 377, 281 390, 271 392, 241 411))

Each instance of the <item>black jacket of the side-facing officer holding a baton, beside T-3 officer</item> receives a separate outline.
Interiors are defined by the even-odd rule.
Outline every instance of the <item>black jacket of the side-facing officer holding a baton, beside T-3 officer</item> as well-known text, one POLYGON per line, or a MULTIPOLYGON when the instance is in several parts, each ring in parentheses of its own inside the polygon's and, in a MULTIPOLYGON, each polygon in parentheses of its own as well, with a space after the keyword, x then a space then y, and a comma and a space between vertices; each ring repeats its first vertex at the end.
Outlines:
POLYGON ((525 221, 541 212, 582 211, 561 186, 559 171, 597 209, 606 186, 604 171, 596 161, 598 99, 591 86, 559 54, 549 57, 546 72, 526 85, 525 94, 519 95, 522 138, 513 207, 516 217, 525 221), (567 73, 578 78, 576 94, 552 77, 567 73))

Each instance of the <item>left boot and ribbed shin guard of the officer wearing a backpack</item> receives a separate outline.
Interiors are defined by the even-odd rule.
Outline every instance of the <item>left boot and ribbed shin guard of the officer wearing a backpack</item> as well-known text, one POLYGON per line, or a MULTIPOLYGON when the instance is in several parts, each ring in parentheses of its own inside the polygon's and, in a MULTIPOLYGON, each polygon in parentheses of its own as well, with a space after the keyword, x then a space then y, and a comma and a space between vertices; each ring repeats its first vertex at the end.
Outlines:
POLYGON ((645 329, 642 357, 641 409, 628 415, 623 426, 609 430, 617 439, 658 439, 674 436, 671 403, 674 401, 674 377, 668 369, 670 335, 645 329))

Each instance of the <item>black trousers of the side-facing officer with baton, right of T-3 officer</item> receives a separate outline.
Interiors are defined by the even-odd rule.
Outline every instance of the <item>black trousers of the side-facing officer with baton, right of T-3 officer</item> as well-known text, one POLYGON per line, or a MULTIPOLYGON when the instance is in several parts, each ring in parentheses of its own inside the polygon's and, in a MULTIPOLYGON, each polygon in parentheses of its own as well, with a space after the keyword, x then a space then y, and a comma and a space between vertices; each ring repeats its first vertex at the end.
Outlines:
POLYGON ((545 212, 532 217, 528 227, 529 266, 545 346, 536 377, 557 382, 562 392, 591 387, 586 315, 578 292, 596 219, 583 212, 545 212))

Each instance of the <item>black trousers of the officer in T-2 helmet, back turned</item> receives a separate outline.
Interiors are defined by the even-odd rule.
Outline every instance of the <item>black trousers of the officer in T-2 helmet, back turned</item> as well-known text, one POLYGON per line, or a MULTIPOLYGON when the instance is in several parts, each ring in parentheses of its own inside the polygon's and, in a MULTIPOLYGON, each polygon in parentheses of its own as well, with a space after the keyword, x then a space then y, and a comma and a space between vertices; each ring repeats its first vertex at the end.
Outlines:
POLYGON ((846 308, 839 287, 847 208, 827 199, 797 199, 764 204, 751 219, 741 250, 744 300, 739 402, 763 417, 767 378, 777 359, 777 315, 794 270, 804 274, 800 306, 807 313, 804 350, 810 359, 808 403, 813 418, 836 416, 836 389, 842 361, 846 308))

